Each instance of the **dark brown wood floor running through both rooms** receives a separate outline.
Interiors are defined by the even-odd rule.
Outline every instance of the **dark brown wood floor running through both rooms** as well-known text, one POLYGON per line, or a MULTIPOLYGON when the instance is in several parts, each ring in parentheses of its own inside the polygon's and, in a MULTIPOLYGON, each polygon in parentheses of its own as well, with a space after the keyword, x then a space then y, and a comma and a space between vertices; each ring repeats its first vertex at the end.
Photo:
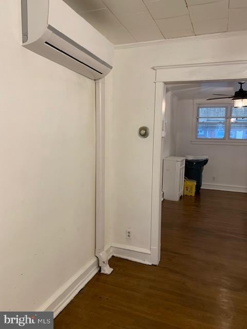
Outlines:
POLYGON ((59 329, 246 329, 247 194, 163 202, 158 266, 113 258, 55 320, 59 329))

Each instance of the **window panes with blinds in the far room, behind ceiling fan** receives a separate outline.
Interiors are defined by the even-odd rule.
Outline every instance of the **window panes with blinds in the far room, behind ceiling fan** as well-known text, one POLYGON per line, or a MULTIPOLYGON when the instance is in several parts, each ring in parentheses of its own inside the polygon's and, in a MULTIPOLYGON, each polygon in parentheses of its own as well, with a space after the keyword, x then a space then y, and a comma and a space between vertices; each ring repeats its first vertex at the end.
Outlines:
POLYGON ((247 107, 233 104, 197 106, 196 139, 247 140, 247 107))

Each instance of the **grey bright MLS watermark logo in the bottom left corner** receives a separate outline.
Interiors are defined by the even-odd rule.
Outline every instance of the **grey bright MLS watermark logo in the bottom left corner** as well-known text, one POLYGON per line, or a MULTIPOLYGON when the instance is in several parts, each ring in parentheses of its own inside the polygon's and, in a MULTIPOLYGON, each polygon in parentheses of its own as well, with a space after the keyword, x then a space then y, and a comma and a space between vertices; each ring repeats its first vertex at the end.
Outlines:
POLYGON ((0 329, 53 329, 53 312, 1 312, 0 329))

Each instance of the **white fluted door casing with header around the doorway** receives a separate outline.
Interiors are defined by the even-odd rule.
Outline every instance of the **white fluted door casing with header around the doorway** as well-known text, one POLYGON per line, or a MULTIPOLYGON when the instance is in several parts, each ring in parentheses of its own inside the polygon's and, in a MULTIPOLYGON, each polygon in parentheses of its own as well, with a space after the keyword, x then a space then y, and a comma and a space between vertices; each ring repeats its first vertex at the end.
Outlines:
POLYGON ((153 264, 158 264, 161 257, 161 126, 162 111, 164 106, 166 106, 167 85, 202 81, 242 81, 247 77, 246 63, 247 61, 231 61, 153 67, 156 71, 151 213, 151 256, 153 264))

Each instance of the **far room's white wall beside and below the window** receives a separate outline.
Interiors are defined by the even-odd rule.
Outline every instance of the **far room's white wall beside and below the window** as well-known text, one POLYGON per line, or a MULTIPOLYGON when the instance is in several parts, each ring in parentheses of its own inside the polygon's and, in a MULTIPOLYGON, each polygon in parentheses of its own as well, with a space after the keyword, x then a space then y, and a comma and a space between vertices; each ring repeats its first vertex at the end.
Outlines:
POLYGON ((204 167, 206 184, 247 188, 247 147, 241 145, 192 144, 193 100, 180 100, 177 104, 177 155, 208 155, 204 167), (213 179, 215 177, 215 180, 213 179))

